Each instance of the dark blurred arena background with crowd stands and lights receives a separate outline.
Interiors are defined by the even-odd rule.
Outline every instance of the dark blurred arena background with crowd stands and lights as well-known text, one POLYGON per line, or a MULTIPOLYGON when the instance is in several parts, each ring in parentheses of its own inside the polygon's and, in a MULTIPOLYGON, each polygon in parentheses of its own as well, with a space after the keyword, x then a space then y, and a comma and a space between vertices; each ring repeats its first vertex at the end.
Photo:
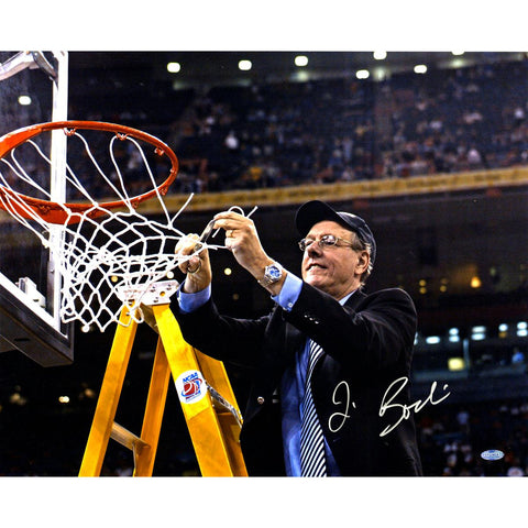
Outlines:
MULTIPOLYGON (((414 398, 449 392, 415 414, 428 476, 528 474, 527 101, 527 53, 69 53, 69 119, 134 127, 175 151, 167 207, 195 194, 183 231, 258 206, 264 248, 298 272, 302 201, 366 219, 378 248, 366 289, 400 286, 418 309, 414 398)), ((2 272, 37 272, 36 239, 13 234, 7 216, 0 229, 2 272)), ((221 309, 271 308, 230 254, 211 258, 221 309)), ((64 366, 0 353, 0 475, 77 475, 112 339, 76 327, 64 366)), ((154 346, 140 327, 117 416, 131 430, 154 346)), ((245 380, 229 374, 243 407, 245 380)), ((154 474, 198 475, 169 388, 154 474)), ((131 453, 110 442, 102 474, 131 472, 131 453)))

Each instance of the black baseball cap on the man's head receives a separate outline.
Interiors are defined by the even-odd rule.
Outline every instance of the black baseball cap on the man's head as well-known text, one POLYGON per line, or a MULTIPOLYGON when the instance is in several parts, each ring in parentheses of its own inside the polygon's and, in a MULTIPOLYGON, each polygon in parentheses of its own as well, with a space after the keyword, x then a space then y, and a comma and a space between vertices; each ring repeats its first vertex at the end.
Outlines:
POLYGON ((312 226, 323 220, 332 220, 343 228, 354 231, 360 240, 366 242, 372 248, 371 263, 376 258, 376 241, 372 234, 371 228, 356 215, 344 211, 334 211, 328 204, 320 200, 311 200, 302 204, 295 216, 295 226, 301 237, 306 237, 312 226))

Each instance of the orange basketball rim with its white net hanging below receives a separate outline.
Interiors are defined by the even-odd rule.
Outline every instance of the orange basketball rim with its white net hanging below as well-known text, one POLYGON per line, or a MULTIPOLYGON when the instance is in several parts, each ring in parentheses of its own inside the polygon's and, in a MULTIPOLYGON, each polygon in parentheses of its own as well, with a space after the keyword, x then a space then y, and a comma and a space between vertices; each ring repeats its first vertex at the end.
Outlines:
POLYGON ((174 221, 193 195, 170 218, 163 197, 176 178, 178 160, 151 134, 96 121, 35 124, 0 138, 0 208, 54 253, 63 278, 64 322, 79 320, 105 331, 119 322, 123 302, 132 320, 142 322, 140 305, 152 286, 163 285, 172 270, 206 245, 185 257, 174 254, 186 237, 174 221), (61 131, 67 136, 67 163, 65 198, 58 201, 52 198, 52 161, 45 152, 46 136, 61 131), (162 220, 140 212, 139 206, 153 199, 162 220))

